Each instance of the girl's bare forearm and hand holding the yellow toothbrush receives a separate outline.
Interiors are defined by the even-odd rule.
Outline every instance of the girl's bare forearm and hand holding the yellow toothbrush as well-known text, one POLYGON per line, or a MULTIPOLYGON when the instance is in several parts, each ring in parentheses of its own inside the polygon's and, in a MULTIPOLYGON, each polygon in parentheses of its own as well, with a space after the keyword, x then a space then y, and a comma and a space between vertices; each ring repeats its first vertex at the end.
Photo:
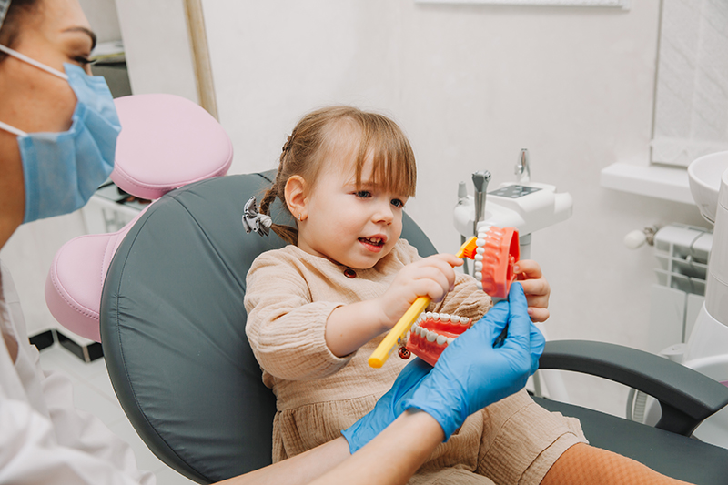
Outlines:
POLYGON ((450 254, 420 259, 402 268, 379 298, 335 308, 326 322, 326 344, 339 357, 349 355, 388 331, 418 297, 440 301, 455 285, 453 267, 462 261, 450 254))

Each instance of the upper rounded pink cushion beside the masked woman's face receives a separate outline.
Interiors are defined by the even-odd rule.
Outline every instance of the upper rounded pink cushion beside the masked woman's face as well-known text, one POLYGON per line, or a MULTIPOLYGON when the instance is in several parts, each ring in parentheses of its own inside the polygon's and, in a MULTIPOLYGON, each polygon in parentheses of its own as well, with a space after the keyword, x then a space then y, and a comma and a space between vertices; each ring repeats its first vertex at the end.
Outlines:
POLYGON ((202 107, 164 94, 119 97, 115 103, 122 131, 111 179, 129 194, 154 200, 227 173, 232 143, 202 107))

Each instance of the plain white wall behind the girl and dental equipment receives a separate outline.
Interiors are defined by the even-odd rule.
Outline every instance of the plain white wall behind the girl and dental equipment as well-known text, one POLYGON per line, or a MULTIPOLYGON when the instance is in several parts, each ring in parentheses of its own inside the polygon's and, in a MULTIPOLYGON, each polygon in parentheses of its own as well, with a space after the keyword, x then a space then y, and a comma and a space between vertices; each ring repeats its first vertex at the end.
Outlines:
MULTIPOLYGON (((646 347, 652 248, 622 237, 656 222, 703 225, 695 207, 599 187, 616 161, 646 164, 659 0, 603 8, 415 5, 412 0, 203 2, 232 173, 276 166, 298 117, 331 103, 393 116, 418 157, 408 203, 441 251, 459 245, 457 184, 487 168, 574 197, 574 215, 537 233, 551 281, 552 338, 646 347)), ((623 413, 626 390, 568 378, 574 400, 623 413)))

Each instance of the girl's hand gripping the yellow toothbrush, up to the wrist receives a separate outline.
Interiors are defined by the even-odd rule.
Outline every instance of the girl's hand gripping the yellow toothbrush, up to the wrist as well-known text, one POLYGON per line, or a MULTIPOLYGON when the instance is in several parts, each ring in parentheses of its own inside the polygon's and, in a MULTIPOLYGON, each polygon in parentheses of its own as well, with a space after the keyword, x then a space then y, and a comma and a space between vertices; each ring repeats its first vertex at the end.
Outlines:
POLYGON ((394 327, 418 297, 441 301, 455 285, 455 266, 462 260, 451 254, 436 254, 402 268, 387 291, 376 302, 382 313, 383 328, 394 327))

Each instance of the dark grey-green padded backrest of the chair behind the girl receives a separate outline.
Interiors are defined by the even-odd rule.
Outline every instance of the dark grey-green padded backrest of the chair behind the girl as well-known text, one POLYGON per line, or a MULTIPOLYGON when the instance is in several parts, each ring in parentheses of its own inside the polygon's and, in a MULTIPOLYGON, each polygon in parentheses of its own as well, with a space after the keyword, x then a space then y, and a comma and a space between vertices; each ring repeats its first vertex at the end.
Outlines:
MULTIPOLYGON (((106 276, 101 337, 116 395, 157 457, 201 483, 270 463, 275 397, 248 345, 243 298, 253 260, 284 243, 246 234, 240 218, 274 177, 170 192, 129 230, 106 276)), ((407 216, 403 237, 435 252, 407 216)))

